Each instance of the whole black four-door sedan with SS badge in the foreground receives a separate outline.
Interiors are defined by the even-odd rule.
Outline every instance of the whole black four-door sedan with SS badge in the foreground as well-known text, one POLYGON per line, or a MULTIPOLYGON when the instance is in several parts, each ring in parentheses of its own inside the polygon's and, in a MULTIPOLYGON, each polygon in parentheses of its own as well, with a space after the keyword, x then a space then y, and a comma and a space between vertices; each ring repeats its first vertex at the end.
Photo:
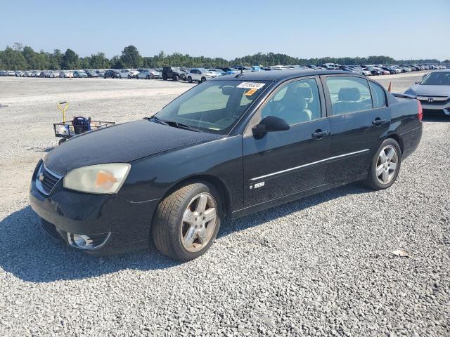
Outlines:
POLYGON ((390 187, 422 135, 418 100, 340 71, 248 72, 157 114, 71 138, 39 161, 30 201, 75 249, 191 260, 224 219, 362 180, 390 187))

